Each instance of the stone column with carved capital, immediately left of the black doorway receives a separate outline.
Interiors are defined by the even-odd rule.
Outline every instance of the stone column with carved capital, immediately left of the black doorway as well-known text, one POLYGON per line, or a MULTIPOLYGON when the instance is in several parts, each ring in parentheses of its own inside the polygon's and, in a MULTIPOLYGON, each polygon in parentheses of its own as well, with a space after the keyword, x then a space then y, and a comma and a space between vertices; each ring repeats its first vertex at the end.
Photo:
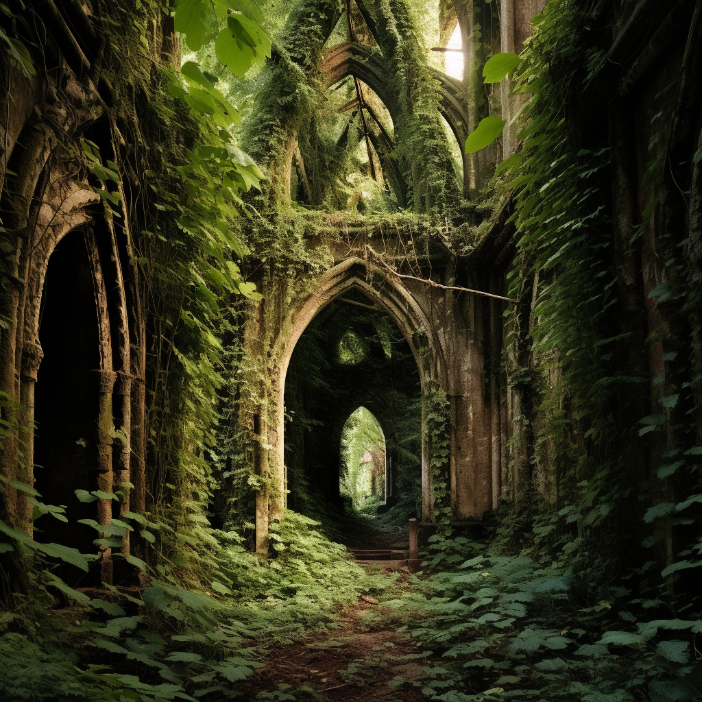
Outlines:
MULTIPOLYGON (((22 347, 20 374, 20 461, 18 479, 27 485, 34 483, 34 388, 44 351, 39 340, 27 341, 22 347)), ((44 496, 46 497, 46 496, 44 496)), ((17 526, 32 533, 32 505, 24 493, 18 494, 17 526)))

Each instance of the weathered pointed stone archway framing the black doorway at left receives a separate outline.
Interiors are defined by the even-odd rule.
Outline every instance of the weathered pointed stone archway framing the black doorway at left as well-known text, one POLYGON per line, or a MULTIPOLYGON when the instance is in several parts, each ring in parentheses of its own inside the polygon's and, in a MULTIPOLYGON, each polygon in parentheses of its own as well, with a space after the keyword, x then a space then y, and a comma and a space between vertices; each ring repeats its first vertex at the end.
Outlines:
MULTIPOLYGON (((2 371, 4 375, 8 371, 13 373, 16 386, 13 394, 19 399, 20 416, 17 441, 6 442, 3 447, 4 468, 7 466, 8 471, 13 471, 12 477, 28 485, 36 477, 40 491, 46 493, 44 501, 51 504, 74 503, 75 489, 98 489, 105 494, 121 490, 119 503, 112 498, 100 498, 88 505, 91 514, 78 508, 71 517, 72 522, 84 517, 95 519, 98 524, 109 524, 118 512, 129 509, 131 482, 136 488, 133 497, 137 509, 143 509, 145 494, 143 442, 137 442, 134 451, 135 444, 131 441, 133 434, 143 437, 143 363, 140 361, 143 341, 138 291, 133 282, 125 282, 123 274, 128 270, 128 238, 119 237, 103 215, 100 193, 77 183, 74 173, 65 170, 65 164, 49 158, 55 146, 51 128, 40 124, 32 128, 30 135, 34 136, 34 140, 28 141, 33 147, 34 157, 29 161, 32 167, 25 169, 27 173, 20 172, 15 187, 27 193, 27 197, 11 201, 14 211, 8 217, 17 242, 18 285, 10 310, 15 324, 4 338, 2 371), (44 185, 39 188, 38 183, 44 185), (30 197, 32 193, 41 197, 30 197), (59 281, 58 288, 51 284, 51 279, 59 281), (53 319, 48 319, 47 314, 53 319), (40 343, 42 321, 44 337, 52 347, 52 358, 45 360, 40 343), (75 353, 72 344, 76 346, 75 353), (84 346, 88 351, 83 354, 84 346), (81 397, 69 396, 63 381, 71 378, 84 406, 78 406, 81 397), (133 385, 138 390, 135 395, 133 385), (48 431, 42 435, 40 427, 37 437, 32 430, 35 398, 41 405, 37 419, 48 431), (133 406, 138 419, 136 426, 132 423, 133 406), (62 411, 65 416, 61 416, 62 411), (58 418, 53 430, 48 428, 49 416, 58 418), (79 430, 70 445, 71 432, 65 430, 62 436, 56 429, 62 420, 71 420, 79 430), (49 439, 48 444, 40 445, 45 439, 49 439), (52 441, 58 442, 53 449, 52 441), (77 441, 87 446, 76 444, 77 441), (56 449, 58 445, 60 449, 56 449), (59 453, 77 458, 74 454, 81 446, 86 449, 85 455, 77 461, 80 468, 74 472, 82 477, 74 475, 66 461, 65 465, 53 461, 53 456, 59 453), (37 461, 35 448, 39 449, 37 461), (15 462, 16 468, 10 468, 15 462), (40 465, 35 475, 35 462, 46 465, 46 470, 40 465), (138 470, 132 471, 131 463, 138 470), (60 489, 54 489, 52 472, 71 484, 59 483, 60 489)), ((32 505, 24 496, 8 491, 6 505, 11 521, 31 532, 32 505)), ((92 539, 86 541, 77 536, 78 527, 74 525, 74 531, 61 531, 59 525, 58 531, 40 538, 52 541, 55 536, 64 545, 96 551, 92 539)), ((122 552, 128 554, 128 536, 124 537, 122 547, 122 552)), ((102 549, 100 554, 102 579, 110 582, 110 549, 102 549)))

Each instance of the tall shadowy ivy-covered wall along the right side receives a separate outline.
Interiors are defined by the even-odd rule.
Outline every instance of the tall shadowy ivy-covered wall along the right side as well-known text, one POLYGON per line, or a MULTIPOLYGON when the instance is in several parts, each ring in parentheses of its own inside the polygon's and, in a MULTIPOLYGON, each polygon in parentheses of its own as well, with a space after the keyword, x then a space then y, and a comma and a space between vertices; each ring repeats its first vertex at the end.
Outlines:
POLYGON ((553 530, 571 530, 562 548, 583 568, 651 558, 684 589, 698 534, 698 11, 627 11, 547 4, 517 69, 522 148, 496 183, 518 300, 503 534, 553 548, 553 530))

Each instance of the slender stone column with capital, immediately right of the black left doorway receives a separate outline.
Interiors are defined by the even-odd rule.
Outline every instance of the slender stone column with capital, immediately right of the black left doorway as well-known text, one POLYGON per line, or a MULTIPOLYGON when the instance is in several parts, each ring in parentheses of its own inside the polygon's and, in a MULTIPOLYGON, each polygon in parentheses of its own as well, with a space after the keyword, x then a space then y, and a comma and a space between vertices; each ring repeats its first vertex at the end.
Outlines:
MULTIPOLYGON (((114 473, 112 471, 112 434, 114 432, 114 418, 112 416, 112 391, 117 380, 114 371, 91 371, 98 382, 98 421, 95 431, 95 457, 98 470, 98 490, 112 493, 114 486, 114 473)), ((98 500, 98 524, 112 522, 112 499, 100 498, 98 500)), ((112 550, 101 548, 102 581, 112 585, 112 550)))

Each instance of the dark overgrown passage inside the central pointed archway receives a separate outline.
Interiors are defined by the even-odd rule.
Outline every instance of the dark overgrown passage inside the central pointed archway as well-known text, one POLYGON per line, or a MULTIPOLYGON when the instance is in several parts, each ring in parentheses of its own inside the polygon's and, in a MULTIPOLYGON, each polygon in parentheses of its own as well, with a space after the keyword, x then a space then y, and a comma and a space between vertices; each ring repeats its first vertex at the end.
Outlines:
MULTIPOLYGON (((340 447, 348 437, 348 420, 363 408, 382 427, 375 433, 383 437, 388 465, 378 505, 402 511, 402 519, 416 516, 422 484, 420 396, 415 357, 385 310, 359 289, 326 305, 300 336, 286 376, 289 508, 332 521, 358 508, 345 484, 349 472, 340 447)), ((379 498, 377 482, 371 494, 379 498)))

